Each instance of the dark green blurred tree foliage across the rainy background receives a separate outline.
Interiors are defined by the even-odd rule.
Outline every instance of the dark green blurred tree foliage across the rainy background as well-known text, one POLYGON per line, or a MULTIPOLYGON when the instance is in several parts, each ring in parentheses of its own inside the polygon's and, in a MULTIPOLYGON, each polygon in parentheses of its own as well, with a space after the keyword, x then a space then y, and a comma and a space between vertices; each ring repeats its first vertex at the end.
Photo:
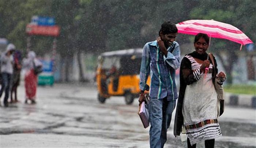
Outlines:
MULTIPOLYGON (((67 59, 76 51, 99 54, 143 47, 147 41, 157 38, 161 24, 167 20, 179 23, 214 19, 236 26, 255 42, 255 10, 255 0, 1 0, 0 37, 25 51, 26 24, 31 16, 38 15, 56 18, 56 24, 61 27, 57 51, 67 59)), ((177 40, 182 45, 190 43, 189 37, 179 35, 177 40)), ((50 52, 52 39, 33 36, 32 49, 39 54, 50 52)), ((230 74, 239 45, 212 39, 210 48, 219 56, 228 56, 225 68, 230 74)))

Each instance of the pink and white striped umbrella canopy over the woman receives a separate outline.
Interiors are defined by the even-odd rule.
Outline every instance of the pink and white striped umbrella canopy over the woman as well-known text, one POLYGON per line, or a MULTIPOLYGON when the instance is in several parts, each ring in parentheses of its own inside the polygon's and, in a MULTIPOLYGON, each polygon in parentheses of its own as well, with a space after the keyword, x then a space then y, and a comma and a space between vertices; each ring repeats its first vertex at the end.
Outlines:
POLYGON ((208 36, 227 39, 242 45, 253 43, 248 36, 233 25, 222 23, 215 20, 187 20, 176 24, 178 33, 196 35, 206 33, 208 36))

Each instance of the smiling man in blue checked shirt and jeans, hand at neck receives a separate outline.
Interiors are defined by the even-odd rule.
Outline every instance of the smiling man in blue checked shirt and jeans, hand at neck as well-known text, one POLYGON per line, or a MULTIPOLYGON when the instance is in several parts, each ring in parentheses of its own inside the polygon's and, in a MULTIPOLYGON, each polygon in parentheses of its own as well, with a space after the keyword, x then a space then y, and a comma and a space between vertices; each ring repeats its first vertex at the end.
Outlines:
POLYGON ((167 21, 161 25, 157 40, 146 43, 143 48, 139 103, 145 100, 144 91, 150 75, 148 111, 151 148, 163 148, 178 98, 174 79, 175 70, 180 66, 180 46, 174 41, 177 32, 176 25, 167 21))

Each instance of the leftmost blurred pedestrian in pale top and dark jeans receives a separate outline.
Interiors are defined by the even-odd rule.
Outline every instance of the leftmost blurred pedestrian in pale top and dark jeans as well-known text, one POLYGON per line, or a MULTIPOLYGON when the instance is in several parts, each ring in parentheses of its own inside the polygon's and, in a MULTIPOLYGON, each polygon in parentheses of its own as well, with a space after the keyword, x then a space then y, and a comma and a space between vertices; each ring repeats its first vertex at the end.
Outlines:
POLYGON ((4 106, 8 107, 9 89, 11 85, 12 73, 13 73, 13 56, 12 53, 15 50, 14 44, 8 44, 5 52, 1 56, 1 77, 2 87, 0 90, 0 97, 5 91, 4 106))

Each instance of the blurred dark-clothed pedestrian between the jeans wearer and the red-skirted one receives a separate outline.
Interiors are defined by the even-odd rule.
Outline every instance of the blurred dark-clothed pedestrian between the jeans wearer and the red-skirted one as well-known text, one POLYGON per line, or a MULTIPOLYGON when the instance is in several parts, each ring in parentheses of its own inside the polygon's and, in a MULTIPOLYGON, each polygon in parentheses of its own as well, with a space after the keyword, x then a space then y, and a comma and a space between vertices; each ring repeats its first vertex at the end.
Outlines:
POLYGON ((19 82, 20 82, 21 61, 22 61, 21 52, 19 50, 15 50, 10 103, 18 102, 17 87, 19 86, 19 82), (12 93, 14 93, 14 99, 12 99, 12 93))

